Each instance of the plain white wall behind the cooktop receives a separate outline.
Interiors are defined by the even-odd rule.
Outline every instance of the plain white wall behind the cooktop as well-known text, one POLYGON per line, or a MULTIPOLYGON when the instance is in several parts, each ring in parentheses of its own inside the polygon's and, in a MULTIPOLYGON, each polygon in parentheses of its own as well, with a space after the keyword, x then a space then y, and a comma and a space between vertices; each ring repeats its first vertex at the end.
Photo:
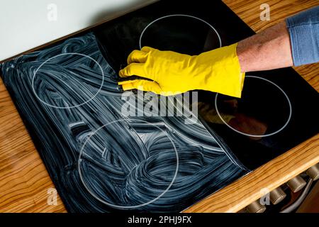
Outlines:
POLYGON ((154 0, 1 0, 0 60, 154 0))

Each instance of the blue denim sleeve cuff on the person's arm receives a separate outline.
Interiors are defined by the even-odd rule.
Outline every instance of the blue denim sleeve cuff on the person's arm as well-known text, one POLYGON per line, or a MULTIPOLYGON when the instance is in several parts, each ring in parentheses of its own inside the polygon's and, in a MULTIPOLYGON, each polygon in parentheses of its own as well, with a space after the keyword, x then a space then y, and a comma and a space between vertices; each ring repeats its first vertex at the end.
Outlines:
POLYGON ((286 19, 293 65, 319 62, 319 6, 286 19))

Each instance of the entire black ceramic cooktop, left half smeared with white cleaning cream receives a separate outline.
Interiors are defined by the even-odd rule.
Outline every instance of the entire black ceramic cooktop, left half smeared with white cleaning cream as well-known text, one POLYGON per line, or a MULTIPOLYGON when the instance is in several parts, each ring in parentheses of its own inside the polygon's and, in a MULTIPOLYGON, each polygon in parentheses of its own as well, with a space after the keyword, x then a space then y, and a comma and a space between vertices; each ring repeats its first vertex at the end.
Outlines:
POLYGON ((182 211, 318 133, 318 93, 291 68, 248 73, 242 99, 198 91, 194 125, 123 116, 118 70, 132 50, 197 55, 253 34, 221 1, 159 1, 4 62, 67 210, 182 211))

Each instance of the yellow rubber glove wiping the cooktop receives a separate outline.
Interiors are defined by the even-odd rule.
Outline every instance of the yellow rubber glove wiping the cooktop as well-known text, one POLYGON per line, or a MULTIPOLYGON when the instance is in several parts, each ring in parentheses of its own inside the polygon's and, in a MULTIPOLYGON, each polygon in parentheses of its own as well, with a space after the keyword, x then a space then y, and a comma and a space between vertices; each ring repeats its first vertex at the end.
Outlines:
POLYGON ((201 89, 240 97, 245 73, 240 72, 237 43, 190 56, 149 47, 134 50, 120 77, 139 76, 118 84, 123 90, 140 89, 164 96, 201 89))

